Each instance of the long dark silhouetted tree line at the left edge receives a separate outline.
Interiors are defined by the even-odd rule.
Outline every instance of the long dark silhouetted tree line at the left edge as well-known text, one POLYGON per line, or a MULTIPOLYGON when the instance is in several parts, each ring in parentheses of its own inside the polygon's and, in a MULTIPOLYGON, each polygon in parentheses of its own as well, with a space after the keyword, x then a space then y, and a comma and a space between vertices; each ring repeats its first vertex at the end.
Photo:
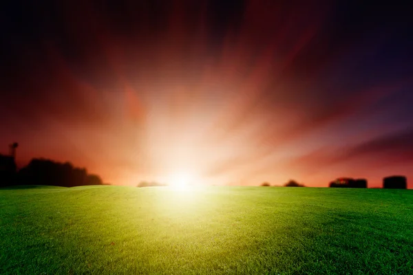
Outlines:
POLYGON ((86 168, 78 168, 70 162, 54 162, 50 159, 32 159, 17 171, 14 158, 0 156, 0 186, 50 185, 89 186, 103 185, 98 175, 87 173, 86 168))

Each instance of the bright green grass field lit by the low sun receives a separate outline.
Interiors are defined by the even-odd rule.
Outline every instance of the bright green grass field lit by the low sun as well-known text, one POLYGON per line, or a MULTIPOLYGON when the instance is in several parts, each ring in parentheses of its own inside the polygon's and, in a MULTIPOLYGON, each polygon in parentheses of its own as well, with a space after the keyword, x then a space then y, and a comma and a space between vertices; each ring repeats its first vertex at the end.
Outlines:
POLYGON ((413 274, 413 190, 0 189, 0 274, 413 274))

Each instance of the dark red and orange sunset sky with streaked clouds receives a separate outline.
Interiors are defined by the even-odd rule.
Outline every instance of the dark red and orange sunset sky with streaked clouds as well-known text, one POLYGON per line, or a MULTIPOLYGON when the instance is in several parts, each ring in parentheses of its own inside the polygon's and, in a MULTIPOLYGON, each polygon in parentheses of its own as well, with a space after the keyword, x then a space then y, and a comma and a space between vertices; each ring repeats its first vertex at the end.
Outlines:
MULTIPOLYGON (((393 2, 392 2, 393 3, 393 2)), ((136 186, 413 188, 413 20, 377 1, 8 1, 0 153, 136 186), (1 145, 2 144, 2 145, 1 145)))

